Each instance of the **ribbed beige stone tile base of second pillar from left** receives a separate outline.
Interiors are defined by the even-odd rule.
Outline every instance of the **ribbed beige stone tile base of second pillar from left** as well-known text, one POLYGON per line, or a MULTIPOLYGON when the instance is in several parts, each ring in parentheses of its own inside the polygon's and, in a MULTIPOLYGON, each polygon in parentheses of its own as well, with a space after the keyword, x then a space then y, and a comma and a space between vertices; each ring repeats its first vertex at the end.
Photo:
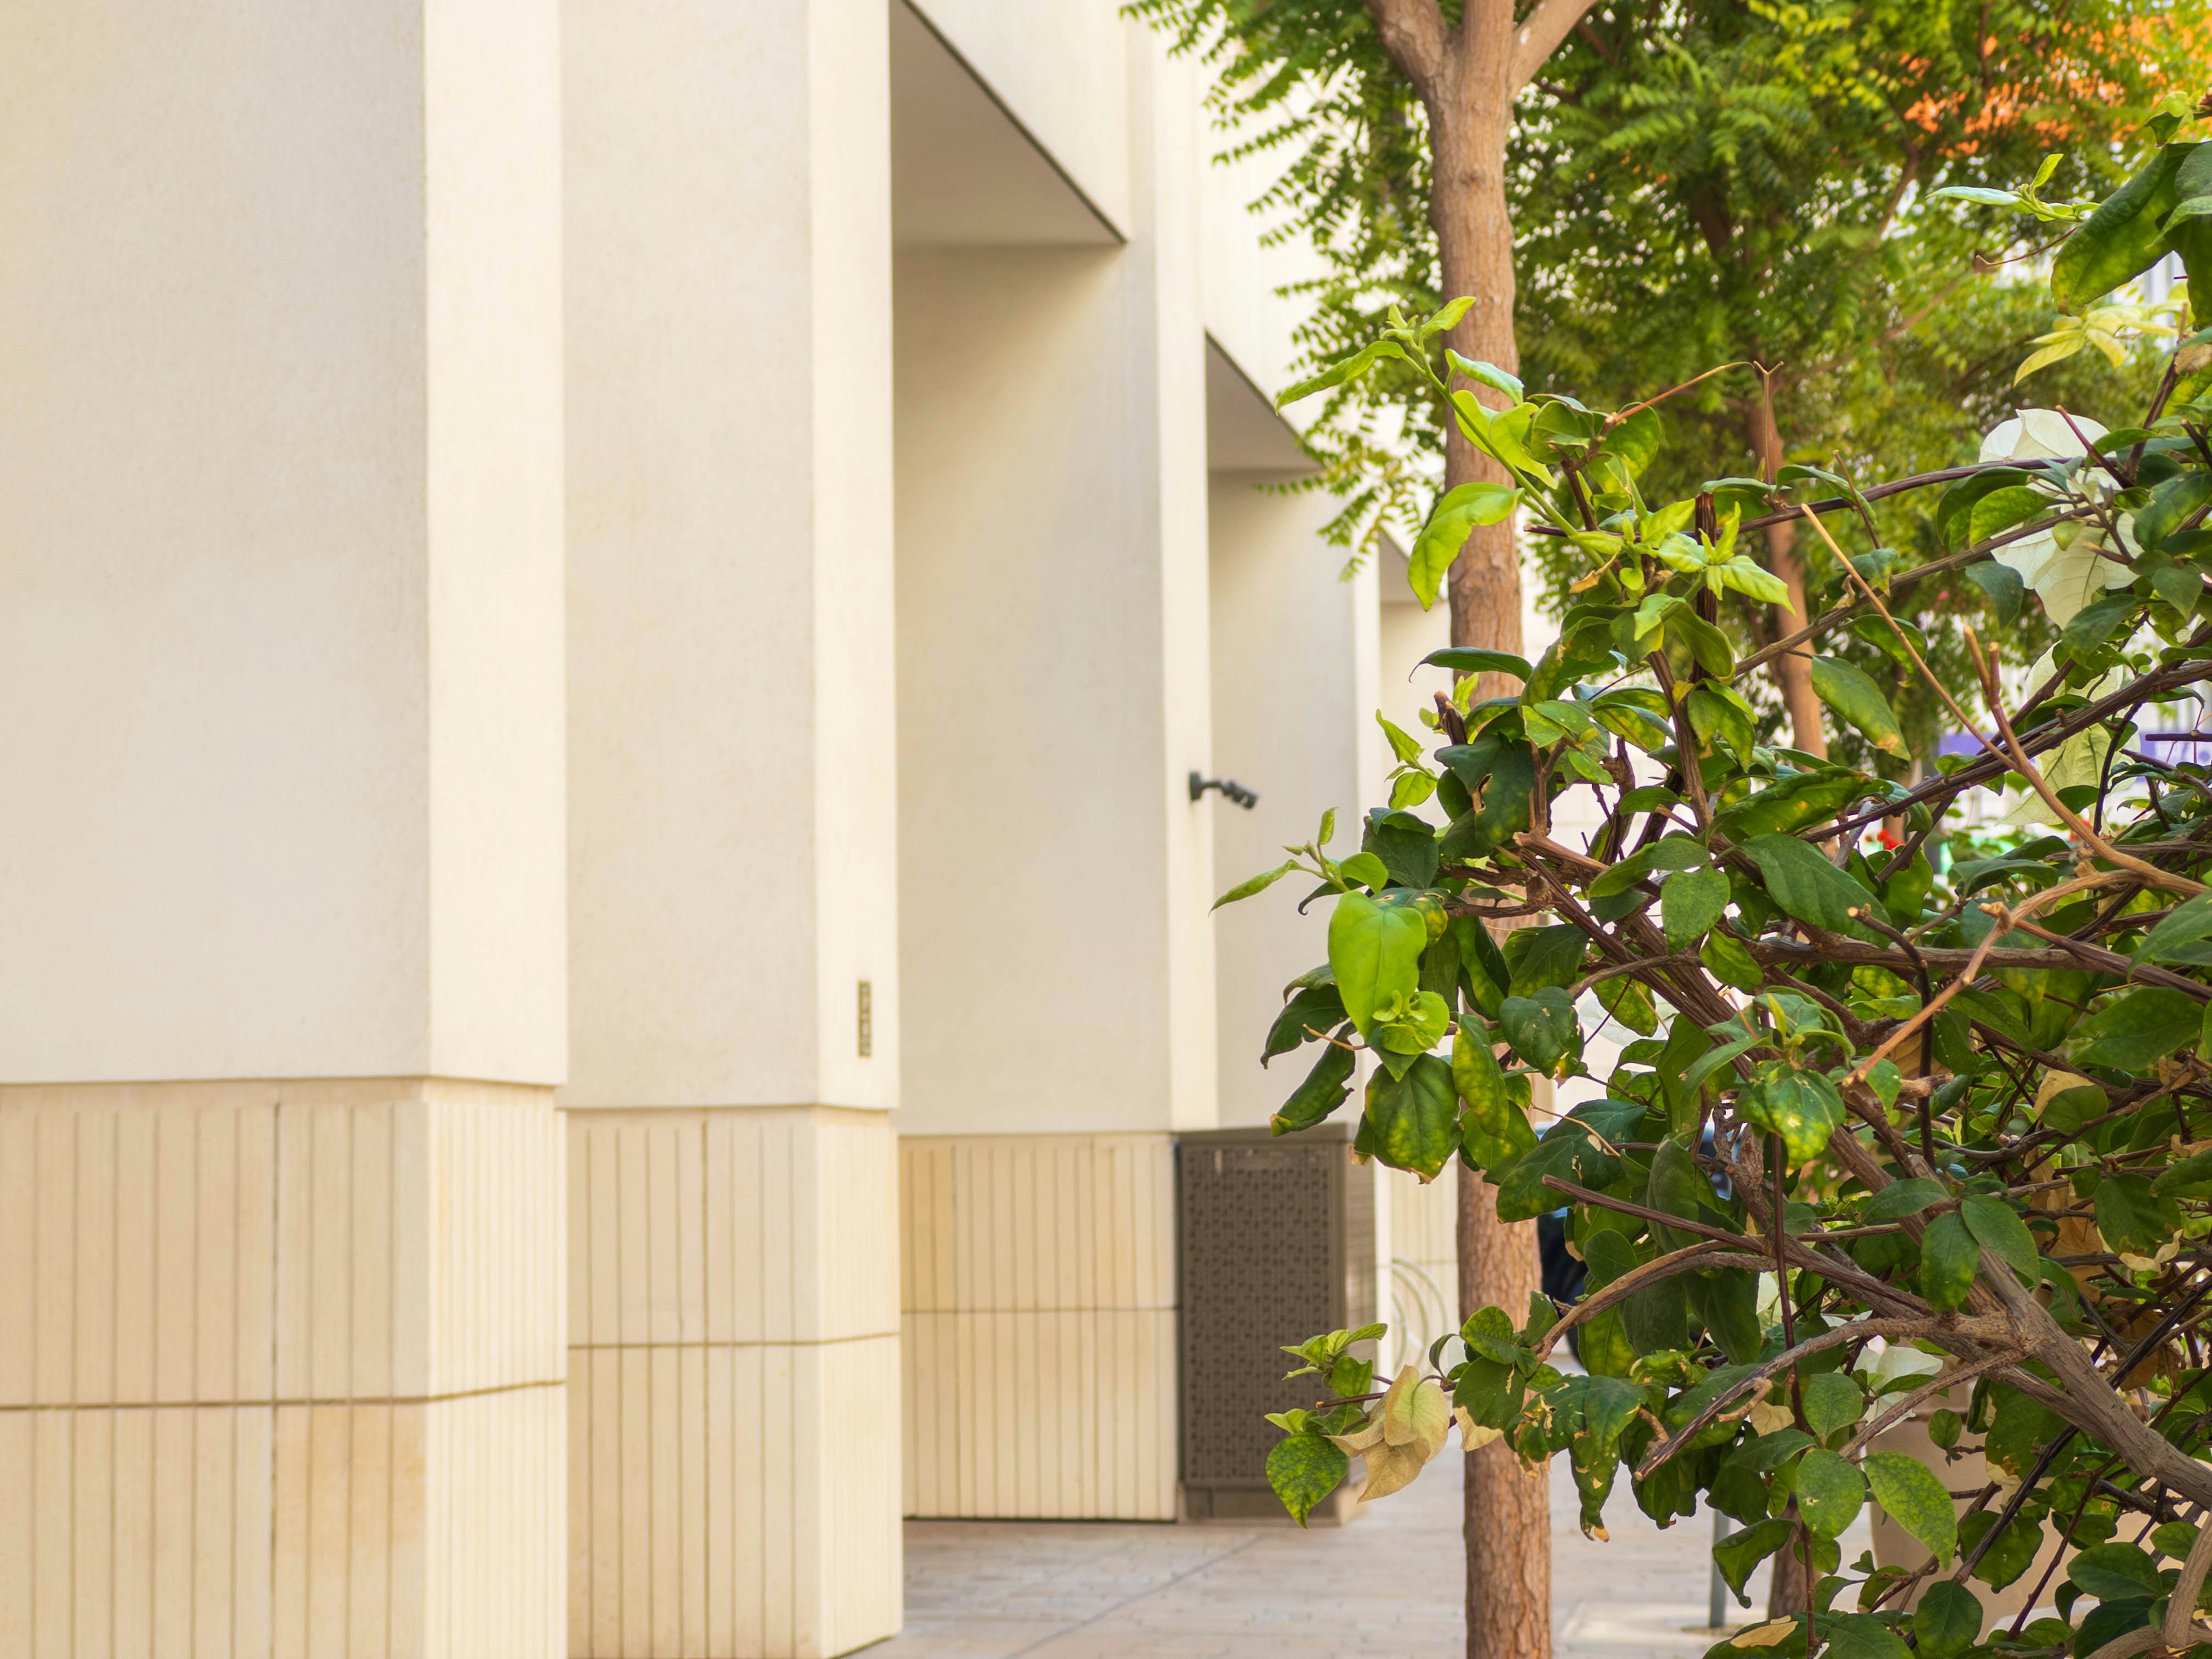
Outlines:
POLYGON ((891 1130, 571 1108, 568 1655, 898 1630, 891 1130))

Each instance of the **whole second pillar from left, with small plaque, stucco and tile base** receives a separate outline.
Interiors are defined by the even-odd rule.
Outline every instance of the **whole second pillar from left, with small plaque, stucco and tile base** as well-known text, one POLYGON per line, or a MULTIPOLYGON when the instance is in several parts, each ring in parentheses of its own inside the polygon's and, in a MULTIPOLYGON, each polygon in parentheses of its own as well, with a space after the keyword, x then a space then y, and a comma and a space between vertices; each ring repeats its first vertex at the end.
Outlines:
POLYGON ((883 0, 568 0, 568 1652, 900 1621, 883 0))

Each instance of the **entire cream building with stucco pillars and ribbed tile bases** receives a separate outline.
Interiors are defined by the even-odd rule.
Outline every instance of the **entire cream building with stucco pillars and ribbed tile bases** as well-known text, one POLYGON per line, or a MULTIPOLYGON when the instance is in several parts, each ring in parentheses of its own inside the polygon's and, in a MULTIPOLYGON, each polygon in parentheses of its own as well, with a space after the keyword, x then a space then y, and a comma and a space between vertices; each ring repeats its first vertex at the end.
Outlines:
POLYGON ((1314 956, 1208 905, 1387 650, 1203 69, 27 0, 0 91, 0 1652, 812 1659, 900 1513, 1172 1520, 1175 1137, 1314 956))

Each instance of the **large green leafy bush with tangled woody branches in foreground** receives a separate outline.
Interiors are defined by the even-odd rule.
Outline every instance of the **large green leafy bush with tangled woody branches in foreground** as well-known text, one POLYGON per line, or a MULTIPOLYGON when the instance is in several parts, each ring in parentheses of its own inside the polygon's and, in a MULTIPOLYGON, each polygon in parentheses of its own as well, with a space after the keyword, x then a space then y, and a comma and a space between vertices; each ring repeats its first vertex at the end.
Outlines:
MULTIPOLYGON (((1995 204, 2066 237, 2062 314, 2179 250, 2212 316, 2212 144, 2174 131, 2095 210, 1995 204)), ((1739 1590, 1805 1562, 1812 1610, 1717 1655, 2212 1655, 2212 774, 2143 743, 2194 726, 2212 679, 2212 330, 2183 327, 2135 425, 2033 409, 1933 476, 1655 502, 1663 392, 1522 396, 1438 349, 1453 310, 1287 396, 1380 361, 1436 376, 1513 482, 1442 495, 1416 593, 1517 511, 1584 564, 1559 639, 1429 657, 1436 745, 1394 739, 1389 805, 1223 902, 1303 876, 1329 914, 1265 1044, 1310 1064, 1276 1130, 1345 1106, 1365 1055, 1356 1150, 1425 1179, 1460 1159, 1506 1219, 1566 1208, 1588 1285, 1484 1307, 1396 1378, 1354 1358, 1374 1327, 1298 1345, 1316 1402, 1276 1418, 1274 1489, 1303 1520, 1354 1455, 1380 1495, 1458 1431, 1564 1453, 1593 1535, 1608 1502, 1732 1515, 1739 1590), (1747 648, 1717 602, 1776 597, 1747 535, 1776 513, 1827 593, 1747 648), (1916 568, 1907 513, 1944 549, 1916 568), (1973 752, 1885 779, 1781 748, 1761 677, 1801 653, 1829 714, 1905 759, 1836 641, 1927 675, 1889 595, 1938 573, 1984 599, 1973 675, 1927 677, 1973 752), (2006 650, 2022 617, 2057 635, 2039 659, 2006 650), (2011 807, 1969 834, 1978 790, 2011 807), (1568 792, 1595 836, 1555 834, 1568 792), (1531 1077, 1584 1075, 1599 1029, 1626 1040, 1604 1097, 1533 1113, 1531 1077), (1571 1332, 1586 1374, 1555 1365, 1571 1332), (1933 1453, 1876 1444, 1913 1416, 1933 1453), (1840 1559, 1869 1502, 1913 1562, 1840 1559), (2042 1613, 1991 1621, 2031 1571, 2042 1613)))

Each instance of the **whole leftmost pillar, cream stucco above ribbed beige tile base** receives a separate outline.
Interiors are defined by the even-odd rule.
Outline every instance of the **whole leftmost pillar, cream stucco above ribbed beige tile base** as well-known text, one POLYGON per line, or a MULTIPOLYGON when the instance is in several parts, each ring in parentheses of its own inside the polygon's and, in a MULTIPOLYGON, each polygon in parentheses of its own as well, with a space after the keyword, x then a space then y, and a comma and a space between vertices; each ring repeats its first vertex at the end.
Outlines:
POLYGON ((0 1652, 560 1650, 551 0, 0 9, 0 1652))

